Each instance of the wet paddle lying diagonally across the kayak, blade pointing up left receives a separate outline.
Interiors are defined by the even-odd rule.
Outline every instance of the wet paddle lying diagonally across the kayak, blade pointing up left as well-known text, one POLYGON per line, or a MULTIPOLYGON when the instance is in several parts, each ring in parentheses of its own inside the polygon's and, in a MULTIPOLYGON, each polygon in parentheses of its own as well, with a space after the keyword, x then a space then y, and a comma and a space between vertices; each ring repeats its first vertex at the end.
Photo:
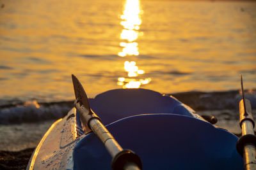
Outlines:
POLYGON ((111 167, 114 170, 139 170, 142 169, 140 157, 131 150, 124 150, 113 138, 108 129, 102 125, 100 118, 93 113, 90 108, 88 97, 79 80, 72 74, 72 81, 76 95, 75 107, 80 113, 83 125, 91 129, 105 148, 110 153, 112 159, 111 167))

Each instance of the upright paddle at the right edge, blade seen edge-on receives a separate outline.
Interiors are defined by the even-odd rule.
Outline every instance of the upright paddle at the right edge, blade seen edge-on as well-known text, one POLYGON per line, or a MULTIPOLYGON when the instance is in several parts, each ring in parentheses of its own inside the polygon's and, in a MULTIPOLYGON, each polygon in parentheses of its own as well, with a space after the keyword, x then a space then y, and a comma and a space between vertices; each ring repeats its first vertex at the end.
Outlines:
POLYGON ((254 120, 252 117, 252 107, 248 99, 244 97, 243 77, 241 77, 242 96, 239 103, 240 127, 242 136, 237 141, 237 151, 244 158, 244 169, 256 169, 256 136, 254 135, 254 120))

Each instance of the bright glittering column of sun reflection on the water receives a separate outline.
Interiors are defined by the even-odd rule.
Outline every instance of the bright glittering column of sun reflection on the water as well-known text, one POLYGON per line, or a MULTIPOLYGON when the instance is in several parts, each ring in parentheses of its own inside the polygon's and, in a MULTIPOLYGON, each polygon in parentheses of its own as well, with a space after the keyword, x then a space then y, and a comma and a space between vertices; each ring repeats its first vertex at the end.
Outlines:
MULTIPOLYGON (((124 27, 120 34, 120 39, 122 39, 120 46, 123 49, 118 55, 120 57, 140 55, 138 43, 136 42, 139 36, 143 36, 143 32, 139 31, 141 25, 140 15, 143 13, 140 9, 140 0, 127 0, 124 8, 124 13, 121 16, 122 21, 120 22, 124 27)), ((117 81, 117 85, 123 88, 140 88, 141 85, 148 84, 151 81, 151 78, 136 78, 140 74, 144 74, 145 71, 139 69, 134 61, 125 61, 124 70, 127 72, 128 78, 120 77, 117 81)))

